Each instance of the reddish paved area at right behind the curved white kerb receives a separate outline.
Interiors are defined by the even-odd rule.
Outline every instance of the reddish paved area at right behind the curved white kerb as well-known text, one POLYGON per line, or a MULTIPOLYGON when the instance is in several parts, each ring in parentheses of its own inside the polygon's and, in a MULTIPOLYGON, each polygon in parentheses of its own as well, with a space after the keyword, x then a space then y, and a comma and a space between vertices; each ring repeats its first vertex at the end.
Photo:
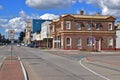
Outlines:
POLYGON ((106 66, 108 68, 114 68, 114 70, 120 71, 120 55, 86 57, 84 61, 90 64, 106 66))

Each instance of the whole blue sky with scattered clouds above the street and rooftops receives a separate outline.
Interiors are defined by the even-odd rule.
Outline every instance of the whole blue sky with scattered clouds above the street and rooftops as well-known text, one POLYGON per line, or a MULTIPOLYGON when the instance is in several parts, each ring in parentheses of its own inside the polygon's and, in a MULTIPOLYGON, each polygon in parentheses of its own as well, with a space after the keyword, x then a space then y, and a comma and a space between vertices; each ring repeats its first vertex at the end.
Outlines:
POLYGON ((62 14, 110 15, 120 21, 120 0, 0 0, 0 33, 8 37, 15 30, 15 38, 25 29, 27 19, 53 20, 62 14))

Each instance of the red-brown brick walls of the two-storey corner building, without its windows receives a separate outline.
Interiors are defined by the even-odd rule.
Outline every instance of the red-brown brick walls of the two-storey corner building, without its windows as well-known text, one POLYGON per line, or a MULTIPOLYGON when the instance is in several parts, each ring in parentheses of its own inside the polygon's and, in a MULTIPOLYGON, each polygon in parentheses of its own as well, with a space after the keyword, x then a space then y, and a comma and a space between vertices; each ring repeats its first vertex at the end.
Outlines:
MULTIPOLYGON (((63 32, 63 33, 60 33, 60 34, 54 34, 54 35, 61 35, 61 36, 63 36, 63 46, 61 46, 61 48, 62 49, 79 49, 79 47, 77 46, 77 39, 79 38, 79 37, 81 37, 82 38, 82 49, 86 49, 86 50, 88 50, 88 49, 91 49, 90 47, 88 47, 87 46, 87 37, 90 37, 90 36, 93 36, 93 37, 100 37, 101 39, 102 39, 102 41, 101 41, 101 47, 102 47, 102 49, 104 50, 104 49, 114 49, 115 48, 115 40, 114 40, 114 45, 113 45, 113 48, 109 48, 108 47, 108 37, 113 37, 113 39, 114 39, 114 35, 115 35, 115 33, 102 33, 102 31, 109 31, 108 30, 108 23, 113 23, 112 25, 113 25, 113 30, 111 30, 111 31, 114 31, 114 20, 101 20, 101 19, 96 19, 96 20, 91 20, 91 19, 67 19, 67 18, 62 18, 61 20, 63 20, 63 23, 64 23, 64 27, 63 27, 63 31, 88 31, 87 30, 87 26, 86 26, 86 24, 88 24, 88 22, 92 22, 92 24, 93 24, 93 27, 92 27, 92 31, 98 31, 98 33, 95 33, 95 32, 92 32, 91 33, 91 31, 90 32, 83 32, 83 33, 80 33, 80 32, 78 32, 78 33, 76 33, 76 32, 71 32, 71 33, 67 33, 67 32, 63 32), (71 29, 69 30, 69 29, 67 29, 66 30, 66 26, 65 26, 65 23, 66 23, 66 21, 71 21, 71 29), (76 22, 82 22, 83 23, 83 26, 81 27, 82 29, 81 30, 78 30, 77 29, 77 26, 76 26, 76 22), (101 23, 101 27, 100 27, 100 30, 96 30, 96 26, 95 26, 95 24, 96 23, 101 23), (101 32, 100 32, 101 31, 101 32), (66 37, 71 37, 71 39, 72 39, 72 42, 71 42, 71 46, 68 46, 68 47, 66 47, 66 37)), ((61 21, 60 20, 60 21, 61 21)), ((57 24, 57 26, 55 26, 55 28, 59 28, 60 30, 58 30, 58 32, 59 31, 61 31, 61 24, 60 24, 61 22, 59 22, 59 24, 57 24)), ((109 32, 111 32, 111 31, 109 31, 109 32)))

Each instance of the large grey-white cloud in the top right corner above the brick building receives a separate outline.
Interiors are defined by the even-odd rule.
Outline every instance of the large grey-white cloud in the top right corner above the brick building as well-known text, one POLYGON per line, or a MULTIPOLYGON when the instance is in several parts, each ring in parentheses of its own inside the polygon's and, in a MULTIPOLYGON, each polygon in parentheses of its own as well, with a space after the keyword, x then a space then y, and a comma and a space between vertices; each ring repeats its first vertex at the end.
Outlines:
POLYGON ((120 17, 120 0, 84 0, 87 4, 94 4, 102 10, 103 15, 120 17))

